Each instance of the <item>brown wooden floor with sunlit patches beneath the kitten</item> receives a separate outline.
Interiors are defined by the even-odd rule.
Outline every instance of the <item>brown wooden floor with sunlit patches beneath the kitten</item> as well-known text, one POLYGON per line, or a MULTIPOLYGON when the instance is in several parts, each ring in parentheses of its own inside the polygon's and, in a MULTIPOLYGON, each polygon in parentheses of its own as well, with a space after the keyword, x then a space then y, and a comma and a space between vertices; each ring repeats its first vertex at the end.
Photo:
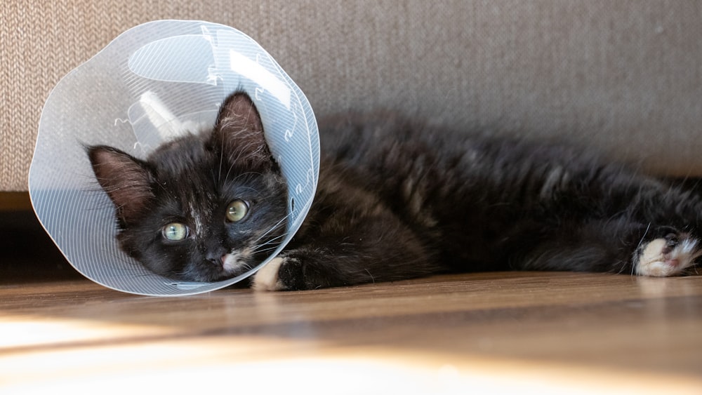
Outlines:
POLYGON ((702 394, 702 276, 510 272, 157 298, 11 256, 1 394, 702 394))

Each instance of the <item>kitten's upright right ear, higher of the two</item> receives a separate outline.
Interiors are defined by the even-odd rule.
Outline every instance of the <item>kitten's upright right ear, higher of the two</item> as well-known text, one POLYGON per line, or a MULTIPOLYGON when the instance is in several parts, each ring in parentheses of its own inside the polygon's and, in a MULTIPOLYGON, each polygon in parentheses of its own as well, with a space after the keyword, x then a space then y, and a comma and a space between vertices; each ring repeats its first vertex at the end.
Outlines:
POLYGON ((246 93, 230 95, 220 107, 213 144, 221 147, 230 161, 255 168, 273 166, 258 109, 246 93))

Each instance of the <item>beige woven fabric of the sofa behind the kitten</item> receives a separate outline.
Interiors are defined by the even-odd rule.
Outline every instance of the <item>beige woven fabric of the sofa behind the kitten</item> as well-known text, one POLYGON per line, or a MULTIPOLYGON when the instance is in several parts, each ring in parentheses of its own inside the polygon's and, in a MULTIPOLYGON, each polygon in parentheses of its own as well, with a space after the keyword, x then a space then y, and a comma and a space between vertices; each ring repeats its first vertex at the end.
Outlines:
POLYGON ((318 115, 399 109, 702 175, 694 0, 30 0, 0 6, 0 190, 27 189, 55 83, 124 30, 168 18, 246 32, 318 115))

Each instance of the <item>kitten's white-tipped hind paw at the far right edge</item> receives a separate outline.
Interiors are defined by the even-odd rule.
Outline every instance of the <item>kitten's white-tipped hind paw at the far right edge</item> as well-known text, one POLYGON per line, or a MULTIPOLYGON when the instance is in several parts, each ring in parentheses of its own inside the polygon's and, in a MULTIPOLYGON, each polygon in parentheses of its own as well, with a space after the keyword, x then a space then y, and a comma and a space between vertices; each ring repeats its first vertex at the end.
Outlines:
POLYGON ((700 242, 689 234, 671 233, 649 241, 637 250, 636 274, 668 277, 683 274, 702 255, 700 242))

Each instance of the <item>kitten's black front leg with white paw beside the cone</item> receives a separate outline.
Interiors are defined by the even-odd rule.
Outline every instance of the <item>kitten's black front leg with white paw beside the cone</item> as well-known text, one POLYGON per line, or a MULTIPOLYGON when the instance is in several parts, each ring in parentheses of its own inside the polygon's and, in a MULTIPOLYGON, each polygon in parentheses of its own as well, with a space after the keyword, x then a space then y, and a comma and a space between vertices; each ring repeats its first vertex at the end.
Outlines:
POLYGON ((315 203, 286 250, 253 276, 256 290, 310 290, 445 272, 436 229, 406 222, 339 173, 321 173, 315 203), (331 179, 330 179, 331 178, 331 179))

